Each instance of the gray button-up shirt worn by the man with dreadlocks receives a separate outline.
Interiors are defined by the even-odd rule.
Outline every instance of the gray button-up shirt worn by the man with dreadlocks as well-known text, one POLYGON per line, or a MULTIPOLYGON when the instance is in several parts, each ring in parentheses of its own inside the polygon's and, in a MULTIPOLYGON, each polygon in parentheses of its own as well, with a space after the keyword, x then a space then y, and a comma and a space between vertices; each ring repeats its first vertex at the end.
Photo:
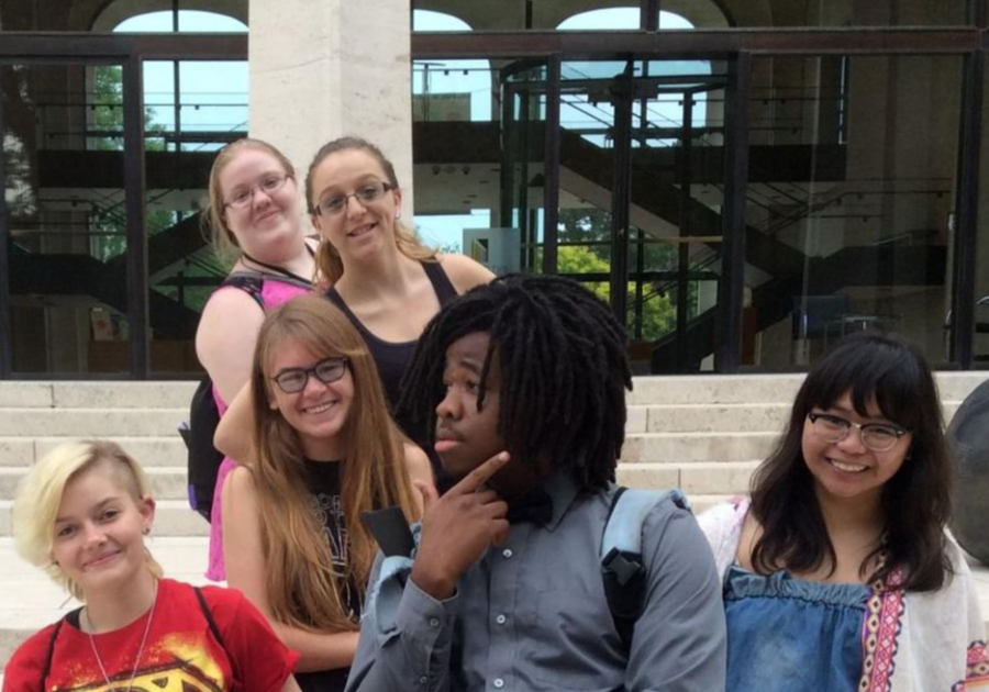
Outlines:
MULTIPOLYGON (((513 524, 437 601, 379 556, 349 692, 724 690, 725 626, 711 550, 690 512, 664 500, 643 524, 646 604, 626 655, 598 556, 613 489, 545 483, 553 517, 513 524)), ((418 538, 418 535, 416 535, 418 538)))

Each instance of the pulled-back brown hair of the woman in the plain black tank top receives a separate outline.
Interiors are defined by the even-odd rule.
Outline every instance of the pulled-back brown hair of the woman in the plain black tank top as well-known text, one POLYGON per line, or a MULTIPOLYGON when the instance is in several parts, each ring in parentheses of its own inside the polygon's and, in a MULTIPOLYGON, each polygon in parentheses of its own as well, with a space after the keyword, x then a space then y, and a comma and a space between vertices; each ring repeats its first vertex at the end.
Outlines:
MULTIPOLYGON (((314 190, 312 189, 312 179, 315 169, 329 156, 338 152, 349 152, 352 149, 365 152, 374 157, 385 171, 385 177, 388 178, 388 185, 392 186, 395 189, 401 187, 399 186, 398 177, 395 175, 395 166, 385 157, 385 154, 382 154, 381 149, 377 146, 360 137, 340 137, 333 139, 320 147, 320 150, 316 152, 312 163, 309 165, 309 171, 305 174, 305 203, 309 207, 309 214, 313 220, 316 215, 315 207, 318 203, 318 200, 314 199, 314 190)), ((315 223, 313 223, 313 226, 314 225, 315 223)), ((398 247, 398 250, 405 257, 420 261, 436 261, 436 250, 423 245, 415 233, 399 223, 398 220, 395 222, 395 244, 396 247, 398 247)), ((337 249, 333 247, 333 244, 326 241, 325 237, 324 242, 320 243, 320 246, 316 249, 315 263, 320 274, 330 281, 330 283, 340 281, 340 278, 344 272, 343 259, 337 249)))

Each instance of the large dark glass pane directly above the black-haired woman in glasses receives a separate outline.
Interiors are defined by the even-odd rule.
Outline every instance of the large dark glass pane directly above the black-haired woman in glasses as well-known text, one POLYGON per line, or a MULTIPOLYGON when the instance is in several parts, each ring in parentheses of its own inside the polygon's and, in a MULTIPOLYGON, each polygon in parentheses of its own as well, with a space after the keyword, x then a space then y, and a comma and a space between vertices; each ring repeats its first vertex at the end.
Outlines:
POLYGON ((748 104, 746 294, 756 365, 851 331, 945 360, 962 58, 758 58, 748 104))

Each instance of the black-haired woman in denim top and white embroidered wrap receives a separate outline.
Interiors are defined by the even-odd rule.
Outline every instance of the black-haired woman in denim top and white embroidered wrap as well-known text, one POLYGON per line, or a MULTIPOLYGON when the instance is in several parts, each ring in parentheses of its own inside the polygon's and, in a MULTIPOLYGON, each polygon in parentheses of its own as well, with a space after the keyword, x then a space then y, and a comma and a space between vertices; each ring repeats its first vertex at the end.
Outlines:
POLYGON ((989 688, 973 578, 945 534, 934 378, 907 342, 842 341, 807 376, 751 498, 699 517, 733 692, 989 688))

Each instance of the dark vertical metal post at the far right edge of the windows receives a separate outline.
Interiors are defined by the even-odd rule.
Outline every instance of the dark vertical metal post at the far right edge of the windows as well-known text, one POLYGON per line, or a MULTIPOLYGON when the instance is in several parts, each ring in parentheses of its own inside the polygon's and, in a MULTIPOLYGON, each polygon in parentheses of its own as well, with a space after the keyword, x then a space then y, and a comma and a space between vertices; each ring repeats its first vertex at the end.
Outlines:
POLYGON ((979 155, 981 153, 982 94, 986 52, 966 56, 962 80, 962 122, 958 137, 958 191, 952 283, 951 359, 971 368, 975 338, 975 278, 979 209, 979 155))

